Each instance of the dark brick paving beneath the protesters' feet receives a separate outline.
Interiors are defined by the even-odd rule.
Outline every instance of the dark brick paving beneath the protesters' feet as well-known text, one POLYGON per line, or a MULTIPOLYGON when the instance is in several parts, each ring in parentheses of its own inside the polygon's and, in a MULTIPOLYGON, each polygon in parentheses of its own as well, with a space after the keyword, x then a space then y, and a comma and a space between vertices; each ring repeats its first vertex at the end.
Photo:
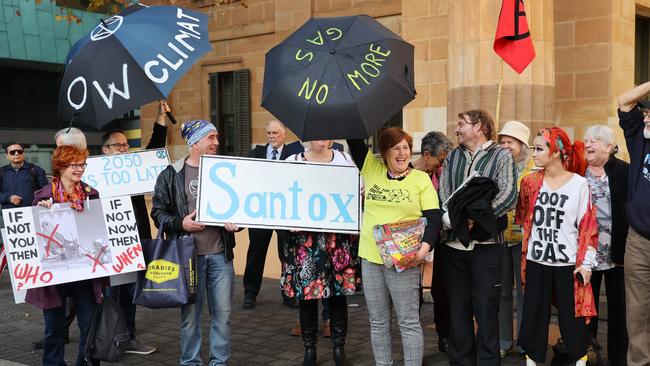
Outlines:
MULTIPOLYGON (((236 279, 235 302, 232 314, 232 346, 231 365, 300 365, 303 346, 299 337, 289 336, 289 330, 298 319, 297 310, 281 305, 277 291, 277 280, 265 279, 262 292, 258 298, 258 306, 252 310, 242 310, 243 289, 241 277, 236 279)), ((348 299, 350 326, 346 352, 354 365, 372 365, 372 349, 368 330, 368 315, 362 296, 348 299)), ((137 326, 138 338, 148 345, 158 348, 158 351, 148 355, 125 355, 114 365, 176 365, 179 359, 179 318, 180 310, 164 309, 149 310, 138 308, 137 326)), ((448 365, 447 357, 437 352, 437 338, 433 327, 433 311, 431 304, 422 307, 422 324, 425 335, 425 365, 448 365)), ((204 314, 203 334, 207 335, 208 316, 204 314)), ((555 321, 555 320, 553 320, 555 321)), ((42 313, 27 304, 15 305, 9 277, 0 276, 0 365, 40 365, 41 351, 32 349, 32 342, 42 336, 42 313), (18 364, 16 364, 18 363, 18 364)), ((606 330, 607 323, 601 324, 600 331, 606 330)), ((70 343, 66 347, 66 358, 74 360, 79 333, 71 328, 70 343)), ((554 342, 557 329, 552 326, 549 338, 554 342)), ((393 355, 396 364, 401 364, 401 343, 399 331, 393 322, 393 355)), ((604 335, 600 336, 604 340, 604 335)), ((203 359, 207 360, 207 338, 203 339, 203 359)), ((329 339, 318 340, 318 360, 320 365, 333 365, 331 361, 331 343, 329 339)), ((605 342, 601 342, 605 343, 605 342)), ((549 357, 550 357, 549 347, 549 357)), ((547 362, 551 364, 551 362, 547 362)), ((69 365, 74 364, 74 362, 69 365)), ((107 363, 106 363, 107 364, 107 363)), ((521 365, 523 359, 518 355, 510 355, 504 359, 504 365, 521 365)))

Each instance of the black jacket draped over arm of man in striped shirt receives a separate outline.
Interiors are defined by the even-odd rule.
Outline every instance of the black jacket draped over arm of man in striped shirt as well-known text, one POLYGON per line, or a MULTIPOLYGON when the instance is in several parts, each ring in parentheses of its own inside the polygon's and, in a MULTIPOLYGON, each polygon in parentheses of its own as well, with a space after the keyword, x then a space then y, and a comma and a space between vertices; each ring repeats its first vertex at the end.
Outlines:
POLYGON ((497 183, 484 177, 473 178, 449 200, 449 220, 458 240, 468 247, 472 240, 486 241, 508 226, 507 216, 494 217, 492 200, 499 191, 497 183), (467 220, 474 221, 469 229, 467 220))

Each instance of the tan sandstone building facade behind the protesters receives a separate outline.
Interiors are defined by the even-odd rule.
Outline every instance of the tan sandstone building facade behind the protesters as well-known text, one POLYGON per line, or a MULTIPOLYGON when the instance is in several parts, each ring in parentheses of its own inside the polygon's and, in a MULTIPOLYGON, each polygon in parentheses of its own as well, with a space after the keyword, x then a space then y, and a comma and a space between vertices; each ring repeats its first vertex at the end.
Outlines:
MULTIPOLYGON (((215 98, 208 82, 211 74, 248 69, 250 143, 264 142, 264 125, 273 118, 260 106, 265 53, 310 17, 362 13, 415 46, 418 94, 403 110, 406 130, 415 136, 430 130, 451 133, 458 112, 480 107, 494 114, 496 109, 501 60, 492 43, 500 0, 198 0, 174 4, 210 15, 214 48, 169 98, 179 120, 209 119, 216 103, 211 101, 215 98)), ((616 96, 633 87, 639 69, 648 68, 648 57, 639 55, 648 52, 648 45, 635 48, 635 39, 647 43, 638 23, 649 14, 650 0, 529 0, 525 6, 537 57, 521 75, 505 65, 500 120, 517 119, 533 130, 558 125, 576 137, 592 124, 616 126, 616 96), (639 60, 646 64, 638 65, 639 60)), ((154 105, 143 108, 143 120, 154 115, 154 105)), ((142 136, 149 135, 147 128, 143 126, 142 136)), ((178 135, 169 135, 176 150, 182 148, 178 135)))

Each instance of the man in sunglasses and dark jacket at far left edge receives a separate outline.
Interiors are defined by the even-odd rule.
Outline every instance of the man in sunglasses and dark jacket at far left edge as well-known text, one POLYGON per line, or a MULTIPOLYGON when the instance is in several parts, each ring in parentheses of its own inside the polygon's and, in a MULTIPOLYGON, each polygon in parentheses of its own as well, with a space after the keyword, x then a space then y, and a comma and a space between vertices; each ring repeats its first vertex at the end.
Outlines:
POLYGON ((0 167, 0 202, 2 208, 31 206, 34 192, 48 184, 43 168, 25 161, 25 146, 19 142, 6 145, 9 164, 0 167))

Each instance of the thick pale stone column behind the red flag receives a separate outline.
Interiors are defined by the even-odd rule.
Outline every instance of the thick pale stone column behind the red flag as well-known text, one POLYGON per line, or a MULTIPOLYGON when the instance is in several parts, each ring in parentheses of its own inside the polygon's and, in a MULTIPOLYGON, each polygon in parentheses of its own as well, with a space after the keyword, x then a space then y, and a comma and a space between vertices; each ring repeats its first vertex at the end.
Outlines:
MULTIPOLYGON (((492 45, 500 8, 501 0, 449 1, 449 133, 467 109, 481 108, 495 118, 502 61, 492 45)), ((553 1, 526 1, 525 10, 537 56, 521 75, 504 63, 500 120, 516 119, 534 133, 555 124, 553 1)))

